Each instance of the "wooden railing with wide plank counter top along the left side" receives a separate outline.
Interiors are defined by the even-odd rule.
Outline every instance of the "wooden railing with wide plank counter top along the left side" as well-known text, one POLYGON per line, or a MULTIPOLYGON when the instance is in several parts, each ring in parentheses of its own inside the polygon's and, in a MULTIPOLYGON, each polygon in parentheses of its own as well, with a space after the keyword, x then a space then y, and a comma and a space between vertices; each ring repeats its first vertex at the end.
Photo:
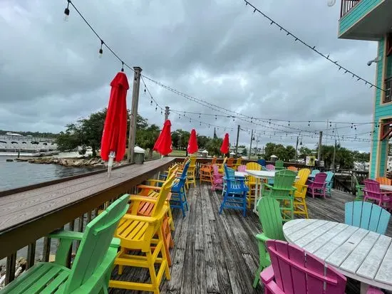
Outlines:
MULTIPOLYGON (((15 271, 18 271, 17 251, 22 249, 18 256, 26 256, 23 268, 31 268, 36 259, 49 261, 56 244, 51 244, 51 239, 46 237, 48 233, 61 228, 83 231, 97 216, 98 209, 105 208, 120 195, 135 193, 136 185, 155 177, 174 161, 175 158, 165 157, 140 165, 118 167, 113 169, 110 178, 105 170, 100 170, 1 191, 0 260, 6 258, 5 284, 14 280, 15 271), (37 244, 42 247, 41 252, 37 252, 37 244)), ((77 248, 78 243, 74 243, 68 265, 77 248)))

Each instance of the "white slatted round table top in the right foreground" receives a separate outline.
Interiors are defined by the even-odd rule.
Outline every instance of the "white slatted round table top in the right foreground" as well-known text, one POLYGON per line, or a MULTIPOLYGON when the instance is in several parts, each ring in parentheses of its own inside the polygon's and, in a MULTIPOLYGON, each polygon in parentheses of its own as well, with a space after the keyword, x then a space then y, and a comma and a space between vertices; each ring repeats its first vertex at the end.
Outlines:
POLYGON ((335 266, 344 275, 392 290, 392 238, 320 219, 294 219, 283 226, 290 243, 335 266))

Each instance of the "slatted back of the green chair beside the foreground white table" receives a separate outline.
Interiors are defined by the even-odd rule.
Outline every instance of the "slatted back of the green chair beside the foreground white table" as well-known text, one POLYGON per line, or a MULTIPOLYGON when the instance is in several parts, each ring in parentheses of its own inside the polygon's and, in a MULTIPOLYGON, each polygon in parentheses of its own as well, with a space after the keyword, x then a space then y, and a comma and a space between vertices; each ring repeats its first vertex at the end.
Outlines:
POLYGON ((262 224, 263 233, 274 240, 285 240, 283 235, 283 219, 279 202, 273 197, 262 197, 257 201, 257 211, 262 224))

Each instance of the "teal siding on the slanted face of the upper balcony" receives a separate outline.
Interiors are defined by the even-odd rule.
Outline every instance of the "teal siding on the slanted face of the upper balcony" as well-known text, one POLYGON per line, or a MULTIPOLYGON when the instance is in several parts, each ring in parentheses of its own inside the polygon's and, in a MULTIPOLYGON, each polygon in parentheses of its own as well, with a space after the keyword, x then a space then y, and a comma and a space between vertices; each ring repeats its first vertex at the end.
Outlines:
POLYGON ((359 2, 359 4, 356 4, 356 6, 354 6, 354 8, 349 11, 349 13, 339 20, 339 35, 348 30, 352 25, 354 25, 354 23, 359 21, 361 17, 374 9, 374 7, 376 7, 382 1, 383 0, 362 0, 359 2))

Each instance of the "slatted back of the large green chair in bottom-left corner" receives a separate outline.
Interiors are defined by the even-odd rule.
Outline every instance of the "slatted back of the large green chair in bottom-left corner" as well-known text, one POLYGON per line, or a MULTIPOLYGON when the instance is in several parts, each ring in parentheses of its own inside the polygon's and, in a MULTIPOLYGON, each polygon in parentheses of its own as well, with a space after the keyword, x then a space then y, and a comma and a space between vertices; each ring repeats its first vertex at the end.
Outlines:
POLYGON ((118 222, 128 211, 128 199, 128 194, 121 196, 87 224, 64 293, 80 288, 98 269, 108 252, 118 222))

